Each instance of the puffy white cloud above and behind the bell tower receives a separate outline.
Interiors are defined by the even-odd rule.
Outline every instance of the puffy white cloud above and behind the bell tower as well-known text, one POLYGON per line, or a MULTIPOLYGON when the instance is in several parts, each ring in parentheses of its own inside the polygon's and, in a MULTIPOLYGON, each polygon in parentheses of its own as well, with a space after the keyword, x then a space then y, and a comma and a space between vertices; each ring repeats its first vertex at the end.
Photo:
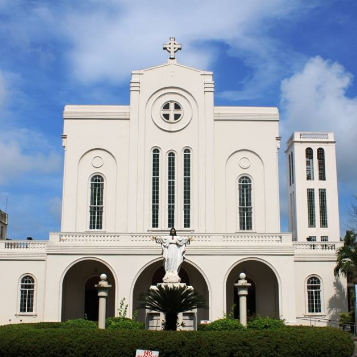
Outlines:
POLYGON ((357 98, 346 94, 352 80, 341 64, 314 57, 281 85, 285 137, 300 130, 334 132, 338 178, 348 185, 357 181, 357 98))

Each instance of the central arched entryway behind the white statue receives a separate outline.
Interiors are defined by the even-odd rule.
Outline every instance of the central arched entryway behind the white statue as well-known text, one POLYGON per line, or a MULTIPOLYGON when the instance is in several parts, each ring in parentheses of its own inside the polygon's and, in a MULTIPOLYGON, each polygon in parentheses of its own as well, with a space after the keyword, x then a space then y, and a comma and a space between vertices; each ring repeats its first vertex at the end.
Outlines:
MULTIPOLYGON (((165 275, 163 267, 163 261, 159 260, 148 265, 136 279, 133 289, 133 311, 137 309, 139 305, 139 298, 142 293, 145 293, 151 285, 162 283, 162 279, 165 275)), ((193 286, 193 288, 203 297, 205 297, 206 305, 209 305, 209 292, 205 278, 192 264, 187 261, 182 263, 179 271, 179 276, 182 283, 193 286)), ((145 322, 145 310, 138 310, 137 319, 145 322)), ((208 320, 209 309, 199 308, 197 310, 197 321, 208 320)))

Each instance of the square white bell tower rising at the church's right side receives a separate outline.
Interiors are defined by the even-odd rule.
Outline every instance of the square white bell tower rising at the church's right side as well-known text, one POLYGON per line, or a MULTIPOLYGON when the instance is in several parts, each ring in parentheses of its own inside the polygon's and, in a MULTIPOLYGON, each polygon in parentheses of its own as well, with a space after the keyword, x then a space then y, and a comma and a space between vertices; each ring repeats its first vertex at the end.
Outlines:
POLYGON ((333 133, 294 132, 287 142, 289 231, 297 241, 339 241, 333 133))

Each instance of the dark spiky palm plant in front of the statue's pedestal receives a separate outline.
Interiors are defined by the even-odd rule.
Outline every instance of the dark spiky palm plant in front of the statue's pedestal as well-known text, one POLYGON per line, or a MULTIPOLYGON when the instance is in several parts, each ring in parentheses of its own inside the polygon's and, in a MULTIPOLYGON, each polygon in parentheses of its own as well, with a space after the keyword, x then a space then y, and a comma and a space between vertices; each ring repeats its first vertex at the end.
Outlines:
POLYGON ((158 285, 141 296, 139 308, 164 313, 164 330, 176 331, 179 313, 198 307, 206 308, 204 302, 204 297, 187 286, 158 285))

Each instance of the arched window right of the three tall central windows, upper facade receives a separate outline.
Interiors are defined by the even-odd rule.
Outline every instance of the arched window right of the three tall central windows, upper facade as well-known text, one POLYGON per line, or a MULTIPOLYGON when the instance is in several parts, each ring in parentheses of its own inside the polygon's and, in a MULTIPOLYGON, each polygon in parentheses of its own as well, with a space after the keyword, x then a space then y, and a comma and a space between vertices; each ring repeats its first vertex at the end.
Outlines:
POLYGON ((239 229, 241 231, 252 230, 252 199, 251 179, 243 176, 238 181, 239 193, 239 229))

